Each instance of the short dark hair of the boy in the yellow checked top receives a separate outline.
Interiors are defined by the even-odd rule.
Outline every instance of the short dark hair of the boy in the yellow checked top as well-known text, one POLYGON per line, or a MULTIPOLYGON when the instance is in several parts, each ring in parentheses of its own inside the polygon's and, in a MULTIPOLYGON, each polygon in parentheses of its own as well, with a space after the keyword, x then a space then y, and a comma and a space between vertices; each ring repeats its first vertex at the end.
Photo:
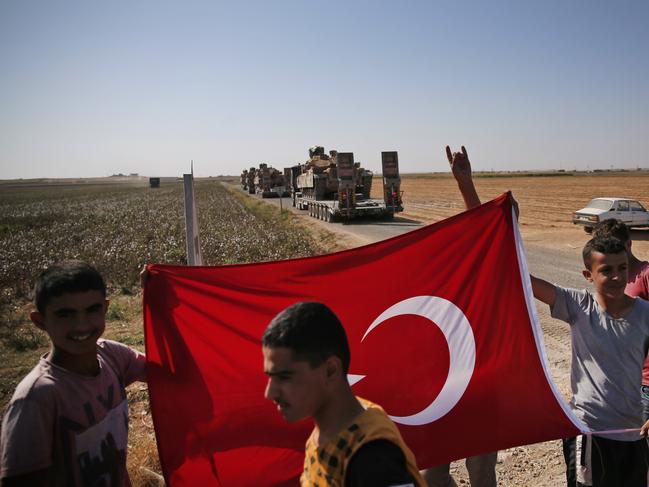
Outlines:
POLYGON ((284 347, 296 360, 317 367, 331 356, 339 357, 343 373, 349 370, 350 352, 342 323, 327 306, 302 302, 289 306, 270 322, 262 337, 264 347, 284 347))

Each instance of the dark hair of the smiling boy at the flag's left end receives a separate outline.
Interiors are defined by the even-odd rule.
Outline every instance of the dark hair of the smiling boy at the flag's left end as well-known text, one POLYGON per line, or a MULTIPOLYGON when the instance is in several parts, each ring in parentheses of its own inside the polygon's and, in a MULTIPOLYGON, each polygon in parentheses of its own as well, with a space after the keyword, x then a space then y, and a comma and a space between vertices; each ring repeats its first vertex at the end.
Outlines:
POLYGON ((106 296, 106 283, 101 274, 86 262, 66 260, 45 269, 34 285, 34 303, 45 312, 50 299, 65 293, 101 291, 106 296))

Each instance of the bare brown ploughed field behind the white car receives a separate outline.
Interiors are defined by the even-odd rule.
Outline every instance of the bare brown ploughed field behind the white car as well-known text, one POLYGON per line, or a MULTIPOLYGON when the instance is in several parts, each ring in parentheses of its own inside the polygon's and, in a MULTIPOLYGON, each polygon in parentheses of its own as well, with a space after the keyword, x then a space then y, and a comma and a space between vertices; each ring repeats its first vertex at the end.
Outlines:
MULTIPOLYGON (((527 241, 549 246, 582 246, 586 233, 572 224, 572 213, 592 198, 617 196, 637 199, 649 209, 649 172, 589 173, 564 176, 526 177, 476 174, 475 183, 482 201, 511 191, 520 206, 520 225, 527 241)), ((401 190, 405 211, 401 216, 433 223, 464 209, 464 203, 450 174, 403 175, 401 190)), ((374 197, 381 197, 380 179, 374 181, 374 197)), ((636 253, 649 258, 649 232, 634 232, 636 253), (643 253, 644 252, 644 253, 643 253)))

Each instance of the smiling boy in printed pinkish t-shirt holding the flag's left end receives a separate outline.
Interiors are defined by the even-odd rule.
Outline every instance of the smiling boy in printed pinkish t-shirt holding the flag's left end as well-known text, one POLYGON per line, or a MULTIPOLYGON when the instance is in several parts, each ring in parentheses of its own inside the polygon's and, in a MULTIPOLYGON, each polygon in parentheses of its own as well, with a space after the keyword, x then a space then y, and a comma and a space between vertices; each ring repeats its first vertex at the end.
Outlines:
POLYGON ((128 486, 125 386, 145 380, 144 355, 110 340, 106 285, 66 261, 34 287, 32 322, 51 350, 18 384, 2 422, 2 486, 128 486))

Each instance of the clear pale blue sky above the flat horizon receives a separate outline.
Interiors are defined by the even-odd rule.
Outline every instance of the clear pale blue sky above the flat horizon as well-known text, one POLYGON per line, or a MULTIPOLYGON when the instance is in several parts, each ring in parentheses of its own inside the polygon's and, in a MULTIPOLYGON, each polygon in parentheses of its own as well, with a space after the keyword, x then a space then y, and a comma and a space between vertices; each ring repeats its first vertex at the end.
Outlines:
POLYGON ((0 179, 649 168, 649 2, 0 0, 0 179))

